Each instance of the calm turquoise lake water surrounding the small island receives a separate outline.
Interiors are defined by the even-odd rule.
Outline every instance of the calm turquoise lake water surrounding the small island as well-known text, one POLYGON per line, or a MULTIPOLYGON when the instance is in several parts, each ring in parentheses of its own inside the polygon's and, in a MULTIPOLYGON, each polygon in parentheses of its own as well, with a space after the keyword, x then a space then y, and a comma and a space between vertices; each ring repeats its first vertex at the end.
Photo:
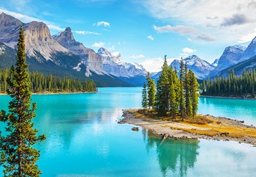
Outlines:
MULTIPOLYGON (((147 131, 133 132, 132 125, 116 123, 121 109, 140 108, 141 88, 99 90, 96 94, 33 95, 35 127, 47 136, 38 147, 41 176, 256 174, 255 147, 207 140, 166 140, 160 145, 161 139, 147 131)), ((7 109, 8 102, 8 96, 0 96, 0 109, 7 109)), ((256 125, 254 100, 200 98, 198 113, 256 125)))

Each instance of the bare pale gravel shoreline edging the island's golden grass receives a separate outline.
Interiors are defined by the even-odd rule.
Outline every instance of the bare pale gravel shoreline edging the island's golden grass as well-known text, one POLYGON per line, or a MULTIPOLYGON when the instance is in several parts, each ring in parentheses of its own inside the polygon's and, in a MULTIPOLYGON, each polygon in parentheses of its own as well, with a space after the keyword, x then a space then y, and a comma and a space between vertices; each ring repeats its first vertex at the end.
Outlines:
MULTIPOLYGON (((177 128, 195 128, 197 130, 207 130, 207 128, 195 127, 193 125, 186 125, 183 123, 176 123, 172 121, 161 121, 156 119, 140 119, 136 118, 135 115, 132 113, 137 109, 125 109, 123 110, 123 119, 121 119, 118 123, 129 123, 131 125, 137 125, 144 129, 148 129, 153 134, 157 136, 163 136, 166 138, 175 138, 175 139, 198 139, 202 138, 205 140, 223 140, 223 141, 235 141, 238 143, 245 143, 251 144, 256 147, 256 138, 253 137, 242 137, 242 138, 232 138, 230 136, 209 136, 209 135, 202 135, 196 134, 192 132, 187 132, 184 130, 177 130, 177 128)), ((234 125, 238 127, 246 127, 256 129, 256 127, 244 125, 243 121, 233 120, 226 117, 213 117, 211 115, 207 115, 211 117, 211 119, 215 119, 216 121, 224 121, 228 122, 229 125, 234 125)), ((208 128, 209 129, 209 128, 208 128)))

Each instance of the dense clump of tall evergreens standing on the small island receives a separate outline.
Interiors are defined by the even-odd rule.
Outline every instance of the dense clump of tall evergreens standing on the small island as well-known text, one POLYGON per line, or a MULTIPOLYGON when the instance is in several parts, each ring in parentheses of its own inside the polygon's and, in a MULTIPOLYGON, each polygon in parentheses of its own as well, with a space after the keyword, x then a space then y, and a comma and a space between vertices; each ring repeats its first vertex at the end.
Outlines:
MULTIPOLYGON (((149 74, 147 80, 154 83, 149 74)), ((196 76, 191 69, 188 70, 186 64, 184 66, 182 58, 179 76, 176 69, 173 70, 172 66, 168 67, 165 55, 162 71, 156 86, 154 111, 158 113, 158 117, 170 115, 173 119, 176 119, 176 117, 181 117, 182 120, 184 118, 194 118, 198 110, 198 98, 200 96, 198 87, 196 76)), ((145 89, 146 87, 144 86, 142 100, 146 96, 146 94, 143 94, 145 89)), ((143 106, 143 102, 142 108, 146 109, 143 106)))

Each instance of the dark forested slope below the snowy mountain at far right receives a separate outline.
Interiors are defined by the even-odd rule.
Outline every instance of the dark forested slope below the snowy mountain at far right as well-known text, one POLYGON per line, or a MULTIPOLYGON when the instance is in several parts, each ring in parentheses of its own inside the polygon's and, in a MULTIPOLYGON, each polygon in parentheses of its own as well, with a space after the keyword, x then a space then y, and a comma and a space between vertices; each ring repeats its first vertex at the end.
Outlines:
POLYGON ((234 70, 235 75, 242 75, 244 70, 256 69, 256 56, 249 58, 249 60, 245 60, 243 62, 239 62, 238 64, 234 64, 226 69, 223 69, 219 72, 223 77, 227 77, 228 73, 231 73, 234 70))

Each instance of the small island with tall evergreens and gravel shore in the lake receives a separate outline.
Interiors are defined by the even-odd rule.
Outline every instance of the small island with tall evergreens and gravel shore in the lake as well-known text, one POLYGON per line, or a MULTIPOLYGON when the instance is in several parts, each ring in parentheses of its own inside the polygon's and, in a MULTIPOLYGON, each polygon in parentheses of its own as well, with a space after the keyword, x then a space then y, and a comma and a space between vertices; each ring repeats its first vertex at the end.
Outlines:
MULTIPOLYGON (((146 80, 142 88, 142 109, 124 110, 124 119, 119 123, 139 125, 153 134, 163 136, 163 141, 165 138, 203 138, 256 145, 256 127, 253 125, 244 125, 244 121, 226 117, 196 113, 200 86, 182 58, 179 74, 176 69, 167 66, 165 55, 156 87, 149 73, 146 80)), ((139 129, 134 127, 133 130, 139 129)))

